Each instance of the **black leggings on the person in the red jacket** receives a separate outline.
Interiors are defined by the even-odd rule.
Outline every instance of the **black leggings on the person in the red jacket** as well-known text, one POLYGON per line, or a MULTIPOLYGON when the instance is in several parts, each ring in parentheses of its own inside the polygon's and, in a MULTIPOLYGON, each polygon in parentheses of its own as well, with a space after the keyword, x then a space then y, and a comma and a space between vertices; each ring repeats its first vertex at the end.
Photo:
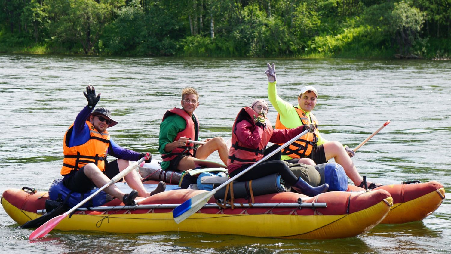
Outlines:
MULTIPOLYGON (((244 164, 243 167, 238 168, 230 173, 230 177, 234 177, 235 175, 238 175, 239 172, 245 170, 247 167, 251 166, 252 164, 244 164)), ((291 172, 290 168, 285 165, 284 162, 281 160, 273 160, 273 161, 265 161, 251 170, 244 173, 244 175, 241 175, 237 180, 240 182, 249 181, 253 179, 257 179, 266 175, 272 175, 275 173, 279 173, 282 177, 282 179, 290 186, 293 186, 298 181, 298 178, 296 177, 293 172, 291 172)))

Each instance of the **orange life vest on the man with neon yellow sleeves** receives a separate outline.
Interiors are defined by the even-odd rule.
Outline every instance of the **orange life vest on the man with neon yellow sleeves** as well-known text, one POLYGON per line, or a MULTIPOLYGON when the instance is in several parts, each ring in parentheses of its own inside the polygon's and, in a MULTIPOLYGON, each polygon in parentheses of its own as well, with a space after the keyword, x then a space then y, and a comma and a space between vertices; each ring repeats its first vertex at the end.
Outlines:
MULTIPOLYGON (((305 115, 304 111, 297 107, 295 107, 295 109, 296 112, 298 112, 299 118, 301 119, 304 125, 309 125, 311 123, 318 125, 318 120, 311 112, 310 112, 310 122, 308 122, 307 115, 305 115)), ((280 114, 277 114, 276 129, 289 129, 281 123, 280 114)), ((287 155, 292 158, 308 157, 317 146, 316 144, 318 142, 317 135, 318 129, 315 129, 313 133, 309 132, 305 134, 295 142, 291 143, 289 146, 285 147, 285 149, 282 149, 282 155, 287 155)))

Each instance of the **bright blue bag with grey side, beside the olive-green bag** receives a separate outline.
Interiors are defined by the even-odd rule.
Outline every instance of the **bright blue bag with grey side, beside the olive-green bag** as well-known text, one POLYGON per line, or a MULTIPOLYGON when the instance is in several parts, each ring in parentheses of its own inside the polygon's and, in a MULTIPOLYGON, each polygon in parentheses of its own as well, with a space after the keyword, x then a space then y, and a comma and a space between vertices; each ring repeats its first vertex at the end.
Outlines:
POLYGON ((320 185, 329 185, 328 191, 346 191, 348 189, 348 176, 338 163, 323 163, 314 166, 321 175, 320 185))

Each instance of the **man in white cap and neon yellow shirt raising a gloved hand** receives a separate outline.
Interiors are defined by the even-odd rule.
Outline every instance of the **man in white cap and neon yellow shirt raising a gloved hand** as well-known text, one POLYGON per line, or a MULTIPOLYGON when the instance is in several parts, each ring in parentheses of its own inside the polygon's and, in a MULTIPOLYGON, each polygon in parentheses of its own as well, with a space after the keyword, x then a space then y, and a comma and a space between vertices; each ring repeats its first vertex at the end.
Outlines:
MULTIPOLYGON (((312 86, 301 88, 298 96, 299 104, 293 106, 277 95, 274 63, 272 65, 268 63, 267 67, 268 69, 265 73, 268 77, 268 98, 278 112, 276 129, 290 129, 311 123, 318 125, 318 120, 311 113, 317 102, 318 91, 312 86)), ((343 166, 346 175, 354 182, 354 185, 363 187, 363 178, 350 158, 353 156, 354 151, 352 149, 347 146, 343 147, 338 141, 323 139, 319 134, 319 130, 316 129, 313 134, 306 134, 282 150, 281 159, 291 163, 314 165, 315 163, 326 163, 329 159, 334 158, 336 163, 343 166)), ((368 182, 368 189, 374 189, 379 186, 382 185, 368 182)))

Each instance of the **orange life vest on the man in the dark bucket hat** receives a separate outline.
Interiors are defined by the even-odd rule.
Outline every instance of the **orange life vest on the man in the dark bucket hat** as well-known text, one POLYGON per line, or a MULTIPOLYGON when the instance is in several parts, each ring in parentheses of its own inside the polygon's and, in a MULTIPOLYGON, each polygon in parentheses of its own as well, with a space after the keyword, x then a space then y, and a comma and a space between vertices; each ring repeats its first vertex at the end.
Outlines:
POLYGON ((105 170, 106 152, 110 146, 110 134, 108 131, 100 133, 90 121, 86 121, 89 127, 89 140, 81 145, 69 147, 69 137, 74 130, 74 124, 64 134, 63 143, 63 167, 61 175, 67 175, 73 170, 79 170, 88 163, 96 164, 101 171, 105 170))

